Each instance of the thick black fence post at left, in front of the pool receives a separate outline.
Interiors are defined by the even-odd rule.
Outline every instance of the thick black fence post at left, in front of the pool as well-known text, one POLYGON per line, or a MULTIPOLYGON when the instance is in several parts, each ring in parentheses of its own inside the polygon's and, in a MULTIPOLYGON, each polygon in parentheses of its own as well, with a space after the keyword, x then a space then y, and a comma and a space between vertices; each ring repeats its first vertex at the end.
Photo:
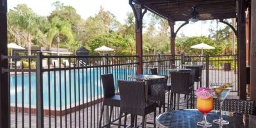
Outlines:
POLYGON ((37 127, 44 127, 44 105, 42 89, 42 52, 36 56, 36 123, 37 127))

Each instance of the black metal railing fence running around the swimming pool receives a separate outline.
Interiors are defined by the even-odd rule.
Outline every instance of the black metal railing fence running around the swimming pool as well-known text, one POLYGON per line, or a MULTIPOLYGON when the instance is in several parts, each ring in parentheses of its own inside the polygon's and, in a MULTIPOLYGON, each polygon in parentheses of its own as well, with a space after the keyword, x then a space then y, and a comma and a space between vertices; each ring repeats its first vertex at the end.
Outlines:
MULTIPOLYGON (((4 56, 10 62, 9 107, 11 127, 97 127, 102 107, 101 74, 129 79, 137 71, 137 56, 4 56)), ((236 56, 143 56, 143 73, 159 74, 173 64, 203 64, 203 85, 207 82, 237 81, 236 56), (230 66, 230 68, 229 68, 230 66)), ((234 91, 237 91, 235 82, 234 91)), ((108 112, 108 111, 104 111, 108 112)), ((114 108, 112 120, 117 120, 119 108, 114 108)), ((106 124, 107 116, 102 119, 106 124)))

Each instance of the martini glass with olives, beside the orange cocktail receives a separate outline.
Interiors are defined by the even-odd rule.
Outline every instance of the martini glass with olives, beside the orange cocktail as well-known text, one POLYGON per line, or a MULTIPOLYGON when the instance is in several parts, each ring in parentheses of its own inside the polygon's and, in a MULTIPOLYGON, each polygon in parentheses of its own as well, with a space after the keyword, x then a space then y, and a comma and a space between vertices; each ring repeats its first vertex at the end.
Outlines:
POLYGON ((212 122, 214 122, 216 124, 221 124, 221 125, 229 124, 229 121, 225 121, 222 117, 222 115, 223 115, 222 106, 223 106, 223 101, 227 97, 229 92, 231 91, 232 86, 229 83, 227 83, 227 84, 210 84, 210 86, 214 90, 215 96, 217 97, 218 101, 220 102, 220 118, 215 119, 212 122))

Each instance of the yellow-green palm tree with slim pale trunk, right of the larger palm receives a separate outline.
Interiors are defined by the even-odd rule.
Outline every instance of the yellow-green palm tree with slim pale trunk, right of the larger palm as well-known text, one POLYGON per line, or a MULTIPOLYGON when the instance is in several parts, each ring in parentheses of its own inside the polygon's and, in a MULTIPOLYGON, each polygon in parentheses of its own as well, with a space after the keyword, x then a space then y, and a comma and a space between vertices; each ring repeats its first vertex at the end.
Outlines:
POLYGON ((69 43, 73 42, 72 27, 68 21, 62 21, 59 17, 53 17, 51 19, 50 28, 47 34, 49 40, 49 46, 51 47, 52 41, 57 41, 57 55, 59 56, 59 44, 61 37, 65 36, 69 40, 69 43))

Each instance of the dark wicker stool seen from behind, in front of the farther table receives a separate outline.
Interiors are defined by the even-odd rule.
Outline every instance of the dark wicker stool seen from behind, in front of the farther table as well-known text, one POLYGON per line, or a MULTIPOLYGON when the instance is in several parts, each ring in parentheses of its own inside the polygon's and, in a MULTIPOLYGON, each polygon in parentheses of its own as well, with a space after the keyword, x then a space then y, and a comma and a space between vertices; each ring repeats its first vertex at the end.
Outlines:
MULTIPOLYGON (((192 99, 190 102, 190 108, 194 108, 195 104, 195 96, 194 96, 194 75, 195 70, 191 71, 177 71, 177 72, 170 72, 170 78, 172 83, 172 93, 174 93, 174 106, 175 109, 175 100, 176 94, 191 94, 192 99)), ((189 98, 187 98, 187 109, 189 109, 189 98)))

